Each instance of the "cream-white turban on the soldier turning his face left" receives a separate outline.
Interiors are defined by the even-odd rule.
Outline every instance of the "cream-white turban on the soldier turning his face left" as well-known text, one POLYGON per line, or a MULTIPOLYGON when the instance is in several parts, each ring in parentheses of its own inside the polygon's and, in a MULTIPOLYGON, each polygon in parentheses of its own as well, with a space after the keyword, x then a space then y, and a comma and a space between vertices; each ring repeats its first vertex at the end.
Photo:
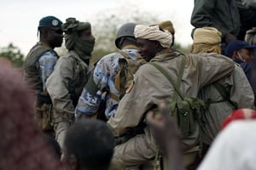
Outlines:
POLYGON ((136 38, 158 41, 163 48, 170 48, 172 44, 172 34, 169 31, 160 31, 159 26, 137 25, 134 29, 136 38))

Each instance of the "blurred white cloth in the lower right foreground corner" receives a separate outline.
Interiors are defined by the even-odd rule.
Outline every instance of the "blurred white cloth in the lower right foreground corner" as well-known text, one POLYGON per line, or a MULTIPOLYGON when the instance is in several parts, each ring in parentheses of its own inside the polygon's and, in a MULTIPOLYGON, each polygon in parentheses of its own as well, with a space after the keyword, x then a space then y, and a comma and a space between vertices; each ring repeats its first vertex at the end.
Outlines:
POLYGON ((253 170, 256 121, 236 121, 219 133, 198 170, 253 170))

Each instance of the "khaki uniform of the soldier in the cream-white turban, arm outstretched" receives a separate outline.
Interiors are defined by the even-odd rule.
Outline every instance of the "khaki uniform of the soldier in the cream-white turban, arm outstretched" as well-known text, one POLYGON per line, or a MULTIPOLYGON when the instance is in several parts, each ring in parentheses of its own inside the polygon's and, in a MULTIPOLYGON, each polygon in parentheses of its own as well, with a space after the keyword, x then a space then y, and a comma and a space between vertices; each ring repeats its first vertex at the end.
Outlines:
MULTIPOLYGON (((181 54, 164 50, 149 62, 157 62, 177 80, 181 59, 181 54)), ((197 97, 200 88, 230 75, 234 66, 233 61, 223 55, 189 54, 180 89, 183 95, 197 97)), ((135 75, 134 86, 121 99, 116 114, 108 121, 114 136, 123 135, 129 127, 136 127, 143 121, 144 113, 162 99, 171 99, 174 91, 172 84, 153 65, 141 66, 135 75)), ((154 139, 148 127, 145 127, 144 132, 125 144, 116 146, 113 157, 123 161, 126 167, 136 166, 153 158, 156 151, 154 139)), ((198 132, 189 139, 183 139, 183 144, 193 145, 197 137, 198 132)))

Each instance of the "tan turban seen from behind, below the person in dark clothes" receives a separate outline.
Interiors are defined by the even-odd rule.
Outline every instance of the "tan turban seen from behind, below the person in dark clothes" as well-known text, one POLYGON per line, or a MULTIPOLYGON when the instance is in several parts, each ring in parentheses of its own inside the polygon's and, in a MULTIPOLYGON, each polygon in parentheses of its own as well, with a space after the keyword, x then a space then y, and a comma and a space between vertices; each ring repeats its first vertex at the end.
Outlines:
POLYGON ((221 32, 213 27, 197 28, 194 32, 194 42, 191 53, 221 54, 221 32))

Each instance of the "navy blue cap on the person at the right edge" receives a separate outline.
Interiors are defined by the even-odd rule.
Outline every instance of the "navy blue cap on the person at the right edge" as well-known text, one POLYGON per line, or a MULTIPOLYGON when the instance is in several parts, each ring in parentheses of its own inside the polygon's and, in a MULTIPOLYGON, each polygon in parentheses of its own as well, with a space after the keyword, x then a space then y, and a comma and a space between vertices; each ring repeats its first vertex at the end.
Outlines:
POLYGON ((245 41, 235 40, 228 44, 225 48, 225 55, 228 57, 232 57, 235 51, 240 50, 241 48, 256 48, 256 46, 250 45, 245 41))

